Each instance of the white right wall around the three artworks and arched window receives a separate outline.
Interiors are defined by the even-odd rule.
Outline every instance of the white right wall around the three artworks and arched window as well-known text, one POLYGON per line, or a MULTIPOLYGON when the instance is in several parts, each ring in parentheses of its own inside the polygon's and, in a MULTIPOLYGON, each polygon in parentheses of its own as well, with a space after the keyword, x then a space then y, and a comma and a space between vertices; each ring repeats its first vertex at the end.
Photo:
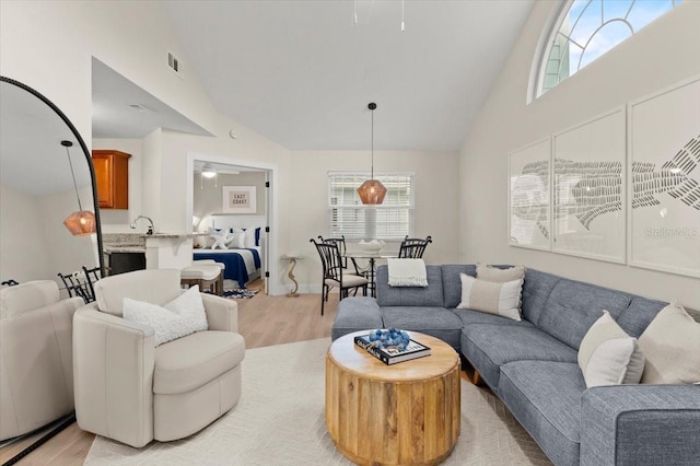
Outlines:
POLYGON ((605 110, 700 73, 700 2, 682 2, 526 105, 540 33, 556 2, 537 2, 459 156, 464 261, 524 264, 700 308, 700 280, 508 245, 508 154, 605 110))

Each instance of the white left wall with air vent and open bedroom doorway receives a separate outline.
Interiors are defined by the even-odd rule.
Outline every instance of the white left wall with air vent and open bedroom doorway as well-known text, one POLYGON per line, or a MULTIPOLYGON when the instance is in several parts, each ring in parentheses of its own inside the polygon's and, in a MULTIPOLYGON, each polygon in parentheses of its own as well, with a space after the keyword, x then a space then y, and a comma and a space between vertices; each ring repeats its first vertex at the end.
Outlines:
MULTIPOLYGON (((203 138, 156 130, 144 138, 141 210, 153 217, 162 231, 191 229, 185 209, 185 187, 191 179, 186 173, 190 152, 273 161, 280 166, 281 179, 276 189, 281 199, 289 197, 284 191, 289 185, 283 182, 289 151, 214 110, 159 2, 3 0, 0 56, 0 73, 51 100, 75 125, 89 148, 93 57, 214 135, 203 138), (184 79, 166 66, 167 51, 180 57, 184 79), (235 141, 229 138, 231 128, 243 137, 235 141)), ((287 231, 283 209, 278 220, 280 232, 287 231)), ((282 235, 275 240, 280 248, 287 248, 282 235)))

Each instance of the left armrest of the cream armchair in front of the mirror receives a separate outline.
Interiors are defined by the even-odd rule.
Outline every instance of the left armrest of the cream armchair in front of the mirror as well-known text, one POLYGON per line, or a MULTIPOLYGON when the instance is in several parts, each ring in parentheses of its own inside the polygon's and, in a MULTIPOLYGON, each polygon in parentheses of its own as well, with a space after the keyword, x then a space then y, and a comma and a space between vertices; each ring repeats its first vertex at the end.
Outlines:
POLYGON ((73 316, 75 417, 81 429, 141 447, 153 440, 153 329, 97 311, 73 316))

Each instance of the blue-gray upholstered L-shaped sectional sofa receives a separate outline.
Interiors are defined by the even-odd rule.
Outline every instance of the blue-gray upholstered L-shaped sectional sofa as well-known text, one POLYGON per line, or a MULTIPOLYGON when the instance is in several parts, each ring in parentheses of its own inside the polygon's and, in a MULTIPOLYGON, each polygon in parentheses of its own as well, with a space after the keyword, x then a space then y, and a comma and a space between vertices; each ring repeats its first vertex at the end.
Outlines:
POLYGON ((441 338, 557 465, 700 465, 699 385, 586 388, 576 360, 603 310, 639 337, 667 303, 527 269, 517 322, 455 308, 459 272, 476 277, 476 266, 427 266, 427 288, 392 288, 386 266, 378 267, 376 300, 342 300, 332 339, 392 326, 441 338))

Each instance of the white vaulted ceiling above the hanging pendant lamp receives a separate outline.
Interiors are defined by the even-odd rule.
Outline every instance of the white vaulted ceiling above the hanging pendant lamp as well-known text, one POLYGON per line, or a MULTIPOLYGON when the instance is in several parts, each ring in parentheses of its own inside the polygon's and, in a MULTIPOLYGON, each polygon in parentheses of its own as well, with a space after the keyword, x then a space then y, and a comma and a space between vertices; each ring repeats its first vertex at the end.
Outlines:
MULTIPOLYGON (((292 150, 458 150, 533 0, 161 2, 219 112, 292 150)), ((185 75, 185 79, 194 77, 185 75)))

